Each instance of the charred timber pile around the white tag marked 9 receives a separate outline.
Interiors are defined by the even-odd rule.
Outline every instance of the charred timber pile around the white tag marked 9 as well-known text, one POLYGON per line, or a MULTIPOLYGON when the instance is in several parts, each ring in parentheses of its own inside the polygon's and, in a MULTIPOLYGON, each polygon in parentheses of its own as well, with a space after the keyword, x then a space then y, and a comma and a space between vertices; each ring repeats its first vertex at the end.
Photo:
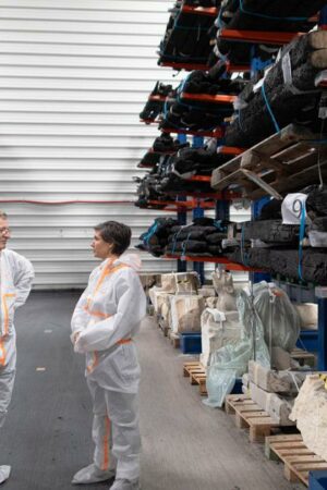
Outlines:
POLYGON ((310 186, 302 193, 307 194, 303 248, 300 225, 283 224, 280 201, 272 199, 257 220, 230 225, 229 236, 233 234, 239 245, 227 252, 229 259, 274 275, 326 285, 327 186, 310 186))

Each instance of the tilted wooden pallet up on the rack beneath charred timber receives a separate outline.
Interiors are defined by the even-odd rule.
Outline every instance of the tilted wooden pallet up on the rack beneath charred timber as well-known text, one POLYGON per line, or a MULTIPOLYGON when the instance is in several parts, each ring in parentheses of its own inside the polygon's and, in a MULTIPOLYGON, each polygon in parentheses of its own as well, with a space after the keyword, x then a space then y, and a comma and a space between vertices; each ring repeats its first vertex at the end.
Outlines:
POLYGON ((267 194, 280 199, 284 193, 318 182, 318 148, 322 174, 327 175, 327 145, 318 139, 324 138, 290 124, 214 170, 211 187, 222 192, 233 184, 250 199, 267 194))

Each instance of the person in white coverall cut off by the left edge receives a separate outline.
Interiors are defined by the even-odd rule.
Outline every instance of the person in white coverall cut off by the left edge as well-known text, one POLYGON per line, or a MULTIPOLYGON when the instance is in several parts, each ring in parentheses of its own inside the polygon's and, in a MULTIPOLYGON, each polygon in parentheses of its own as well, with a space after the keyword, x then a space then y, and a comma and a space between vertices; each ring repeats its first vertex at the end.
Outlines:
MULTIPOLYGON (((34 278, 32 264, 22 255, 5 249, 9 238, 8 217, 0 211, 0 428, 4 424, 15 379, 14 311, 27 299, 34 278)), ((0 454, 1 442, 0 437, 0 454)), ((9 478, 10 470, 8 465, 0 466, 0 483, 9 478)))

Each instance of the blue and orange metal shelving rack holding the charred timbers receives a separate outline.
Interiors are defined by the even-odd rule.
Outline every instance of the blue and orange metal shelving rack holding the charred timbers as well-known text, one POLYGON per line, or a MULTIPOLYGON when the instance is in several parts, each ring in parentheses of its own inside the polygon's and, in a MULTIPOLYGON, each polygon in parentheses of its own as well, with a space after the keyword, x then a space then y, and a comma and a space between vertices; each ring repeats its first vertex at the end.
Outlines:
MULTIPOLYGON (((185 9, 185 5, 184 5, 185 9)), ((195 13, 193 8, 187 8, 184 10, 190 11, 190 13, 195 13)), ((211 9, 210 15, 216 15, 218 13, 218 10, 211 9)), ((203 9, 203 14, 208 14, 205 12, 206 9, 203 9)), ((198 12, 199 13, 199 12, 198 12)), ((317 22, 319 24, 319 28, 327 28, 327 5, 320 11, 318 19, 312 19, 313 21, 317 22)), ((234 40, 235 42, 240 41, 246 41, 252 44, 271 44, 277 46, 283 46, 288 42, 290 42, 295 36, 300 36, 303 33, 278 33, 278 32, 259 32, 259 30, 232 30, 232 29, 222 29, 220 32, 220 36, 225 39, 234 40)), ((160 63, 162 66, 171 66, 175 70, 185 70, 185 71, 192 71, 192 70, 207 70, 206 64, 183 64, 183 63, 175 63, 175 62, 164 62, 160 63)), ((267 66, 267 62, 261 63, 257 59, 252 59, 249 62, 249 65, 233 65, 232 63, 229 63, 227 60, 227 72, 249 72, 251 71, 254 73, 257 70, 262 70, 265 66, 267 66)), ((326 78, 327 79, 327 78, 326 78)), ((327 82, 320 82, 322 86, 327 86, 327 82)), ((198 101, 207 101, 210 103, 226 103, 226 102, 232 102, 234 99, 233 97, 229 96, 208 96, 208 95, 194 95, 194 94, 182 94, 184 99, 190 100, 198 100, 198 101)), ((146 122, 146 121, 145 121, 146 122)), ((195 146, 202 146, 203 144, 203 137, 204 136, 210 136, 210 137, 217 137, 218 139, 223 137, 223 132, 221 128, 217 128, 213 132, 202 132, 202 133, 195 133, 195 132, 187 132, 183 130, 175 130, 175 128, 165 128, 162 130, 167 133, 177 133, 178 138, 181 140, 181 143, 184 143, 186 140, 186 134, 194 135, 194 144, 195 146), (196 139, 197 138, 197 139, 196 139), (199 139, 198 139, 199 138, 199 139)), ((232 155, 240 155, 244 151, 243 148, 230 148, 228 147, 221 147, 221 150, 223 151, 230 151, 232 155)), ((221 220, 229 220, 229 200, 223 199, 223 196, 221 199, 217 199, 215 203, 215 211, 216 211, 216 219, 221 220)), ((182 204, 185 203, 186 196, 180 196, 178 197, 178 201, 182 204)), ((263 204, 267 201, 267 198, 262 198, 258 201, 255 201, 252 204, 252 218, 254 219, 258 212, 263 204)), ((193 216, 194 217, 202 217, 204 213, 203 209, 201 207, 195 207, 193 209, 193 216)), ((180 224, 186 223, 186 212, 185 209, 178 211, 178 219, 180 224)), ((204 280, 204 261, 210 261, 215 264, 223 264, 227 268, 230 270, 247 270, 250 272, 251 280, 253 282, 258 282, 263 279, 269 280, 269 274, 262 273, 258 271, 250 270, 249 268, 240 265, 230 262, 229 260, 225 259, 223 257, 219 258, 207 258, 203 259, 201 257, 183 257, 183 261, 181 260, 181 257, 179 256, 167 256, 167 258, 177 258, 178 259, 178 270, 186 270, 186 262, 192 261, 194 264, 194 269, 197 270, 199 273, 202 280, 204 280)), ((318 369, 319 370, 327 370, 327 287, 323 286, 305 286, 302 284, 295 284, 295 283, 288 283, 286 281, 275 281, 277 284, 283 289, 288 295, 290 296, 291 301, 298 302, 298 303, 316 303, 318 305, 318 328, 317 330, 308 330, 308 331, 302 331, 300 335, 300 347, 305 347, 307 351, 314 351, 317 353, 318 357, 318 369)))

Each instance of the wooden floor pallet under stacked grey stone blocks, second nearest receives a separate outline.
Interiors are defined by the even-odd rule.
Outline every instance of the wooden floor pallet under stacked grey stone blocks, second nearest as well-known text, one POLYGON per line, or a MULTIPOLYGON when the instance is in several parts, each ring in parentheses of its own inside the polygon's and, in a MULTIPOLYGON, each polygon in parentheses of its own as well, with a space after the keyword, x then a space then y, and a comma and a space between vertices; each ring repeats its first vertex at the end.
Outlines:
POLYGON ((264 442, 271 429, 279 427, 266 411, 263 411, 245 394, 227 395, 225 400, 227 414, 233 414, 237 427, 249 428, 250 442, 264 442))

